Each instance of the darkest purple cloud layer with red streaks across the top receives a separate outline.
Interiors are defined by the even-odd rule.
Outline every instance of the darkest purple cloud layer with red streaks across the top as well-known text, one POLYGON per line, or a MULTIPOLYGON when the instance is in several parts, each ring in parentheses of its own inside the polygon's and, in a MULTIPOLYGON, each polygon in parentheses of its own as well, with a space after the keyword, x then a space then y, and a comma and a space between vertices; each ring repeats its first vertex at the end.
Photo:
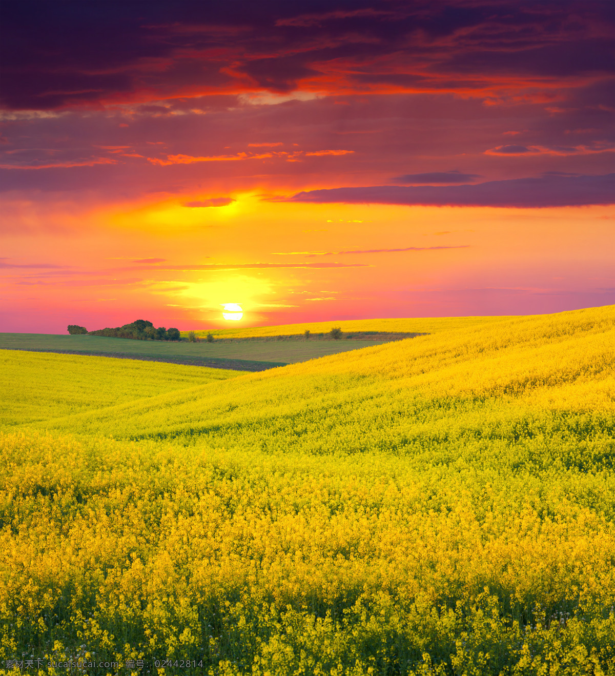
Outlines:
POLYGON ((599 0, 8 0, 2 11, 14 110, 302 87, 545 91, 548 78, 612 71, 613 8, 599 0))

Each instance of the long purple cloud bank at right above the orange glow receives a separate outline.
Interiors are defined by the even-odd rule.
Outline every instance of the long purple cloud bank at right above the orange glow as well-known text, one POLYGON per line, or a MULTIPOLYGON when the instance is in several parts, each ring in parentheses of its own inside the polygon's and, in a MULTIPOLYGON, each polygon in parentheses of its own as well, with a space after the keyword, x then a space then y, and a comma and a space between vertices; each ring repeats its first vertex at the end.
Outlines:
POLYGON ((478 185, 401 187, 379 185, 297 193, 289 201, 424 206, 490 206, 512 208, 582 206, 615 203, 615 174, 491 180, 478 185))

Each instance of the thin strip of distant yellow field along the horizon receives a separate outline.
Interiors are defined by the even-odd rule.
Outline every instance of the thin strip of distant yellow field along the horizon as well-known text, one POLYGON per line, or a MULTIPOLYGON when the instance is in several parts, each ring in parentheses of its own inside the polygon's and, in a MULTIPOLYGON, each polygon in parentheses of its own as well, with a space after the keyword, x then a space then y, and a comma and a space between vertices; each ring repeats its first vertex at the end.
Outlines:
MULTIPOLYGON (((340 327, 344 333, 358 331, 382 331, 383 333, 441 333, 449 329, 462 329, 481 324, 492 324, 510 317, 423 317, 410 319, 352 319, 346 321, 310 322, 307 324, 280 324, 276 327, 232 327, 212 329, 212 335, 219 338, 252 338, 277 335, 301 335, 307 329, 312 333, 328 333, 333 327, 340 327)), ((230 322, 229 322, 230 323, 230 322)), ((205 337, 210 331, 195 331, 197 336, 205 337)), ((188 331, 181 332, 187 337, 188 331)))

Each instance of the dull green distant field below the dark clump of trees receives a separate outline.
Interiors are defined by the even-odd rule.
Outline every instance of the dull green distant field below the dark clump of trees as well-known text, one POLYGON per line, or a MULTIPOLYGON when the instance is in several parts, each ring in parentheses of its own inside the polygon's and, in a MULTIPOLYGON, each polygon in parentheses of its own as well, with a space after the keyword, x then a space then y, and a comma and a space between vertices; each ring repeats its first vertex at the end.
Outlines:
POLYGON ((0 349, 26 349, 37 352, 108 354, 132 359, 195 364, 238 370, 264 370, 310 359, 339 354, 386 341, 248 341, 246 343, 207 343, 141 341, 89 335, 45 333, 0 333, 0 349))

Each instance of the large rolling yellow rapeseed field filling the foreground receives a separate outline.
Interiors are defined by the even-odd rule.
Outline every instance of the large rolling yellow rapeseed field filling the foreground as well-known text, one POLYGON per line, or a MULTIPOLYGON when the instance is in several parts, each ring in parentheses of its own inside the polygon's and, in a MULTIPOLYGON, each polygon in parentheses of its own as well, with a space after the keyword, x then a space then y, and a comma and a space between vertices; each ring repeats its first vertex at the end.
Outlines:
POLYGON ((614 352, 610 306, 115 399, 0 353, 5 670, 614 675, 614 352))

